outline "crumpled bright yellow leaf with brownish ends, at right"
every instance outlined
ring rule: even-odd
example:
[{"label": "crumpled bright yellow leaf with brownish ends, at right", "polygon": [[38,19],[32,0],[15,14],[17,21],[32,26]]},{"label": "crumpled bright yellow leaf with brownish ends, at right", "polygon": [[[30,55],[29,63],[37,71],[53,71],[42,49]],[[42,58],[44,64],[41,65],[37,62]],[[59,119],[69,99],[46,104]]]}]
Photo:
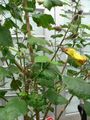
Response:
[{"label": "crumpled bright yellow leaf with brownish ends, at right", "polygon": [[78,65],[83,65],[88,60],[85,55],[80,55],[74,48],[62,48],[62,51],[73,58]]}]

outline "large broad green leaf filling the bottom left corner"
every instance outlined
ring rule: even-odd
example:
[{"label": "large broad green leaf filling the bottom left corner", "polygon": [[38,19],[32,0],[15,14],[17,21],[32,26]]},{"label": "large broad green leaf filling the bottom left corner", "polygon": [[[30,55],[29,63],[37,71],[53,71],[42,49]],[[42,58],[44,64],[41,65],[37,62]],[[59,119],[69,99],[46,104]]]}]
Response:
[{"label": "large broad green leaf filling the bottom left corner", "polygon": [[0,108],[1,120],[15,120],[18,116],[25,115],[27,112],[27,105],[25,101],[14,98],[10,100],[5,108]]}]

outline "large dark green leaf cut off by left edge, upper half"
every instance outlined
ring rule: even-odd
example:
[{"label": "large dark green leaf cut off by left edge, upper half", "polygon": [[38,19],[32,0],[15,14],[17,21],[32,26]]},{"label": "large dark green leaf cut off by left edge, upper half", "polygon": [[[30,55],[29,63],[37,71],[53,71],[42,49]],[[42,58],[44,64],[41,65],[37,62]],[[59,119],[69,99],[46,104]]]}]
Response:
[{"label": "large dark green leaf cut off by left edge, upper half", "polygon": [[10,31],[4,26],[0,25],[0,46],[13,46]]}]

